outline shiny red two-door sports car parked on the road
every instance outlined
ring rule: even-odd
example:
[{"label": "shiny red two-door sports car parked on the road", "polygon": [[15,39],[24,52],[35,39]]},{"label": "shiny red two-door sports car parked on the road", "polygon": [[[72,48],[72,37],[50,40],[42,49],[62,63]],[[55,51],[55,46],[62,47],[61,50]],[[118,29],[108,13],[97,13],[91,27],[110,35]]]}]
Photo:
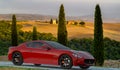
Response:
[{"label": "shiny red two-door sports car parked on the road", "polygon": [[75,51],[53,41],[30,41],[9,48],[8,59],[15,65],[33,63],[60,65],[64,69],[72,66],[89,68],[94,64],[94,57],[88,52]]}]

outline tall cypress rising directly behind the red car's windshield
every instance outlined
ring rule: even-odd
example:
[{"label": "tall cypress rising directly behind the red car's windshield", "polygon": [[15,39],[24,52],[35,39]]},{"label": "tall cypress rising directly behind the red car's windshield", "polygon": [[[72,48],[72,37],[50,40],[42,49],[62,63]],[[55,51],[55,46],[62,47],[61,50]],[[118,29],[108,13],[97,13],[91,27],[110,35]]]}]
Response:
[{"label": "tall cypress rising directly behind the red car's windshield", "polygon": [[66,29],[66,22],[65,22],[65,12],[63,4],[60,6],[59,10],[59,24],[58,24],[58,35],[57,35],[58,42],[67,45],[67,29]]}]

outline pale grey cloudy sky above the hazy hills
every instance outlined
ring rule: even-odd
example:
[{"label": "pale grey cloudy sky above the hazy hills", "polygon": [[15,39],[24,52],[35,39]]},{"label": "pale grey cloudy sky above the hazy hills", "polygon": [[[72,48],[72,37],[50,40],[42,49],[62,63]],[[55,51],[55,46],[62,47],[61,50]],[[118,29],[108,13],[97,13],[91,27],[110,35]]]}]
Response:
[{"label": "pale grey cloudy sky above the hazy hills", "polygon": [[0,14],[58,16],[61,4],[67,16],[93,15],[95,5],[99,4],[104,16],[120,18],[120,0],[0,0]]}]

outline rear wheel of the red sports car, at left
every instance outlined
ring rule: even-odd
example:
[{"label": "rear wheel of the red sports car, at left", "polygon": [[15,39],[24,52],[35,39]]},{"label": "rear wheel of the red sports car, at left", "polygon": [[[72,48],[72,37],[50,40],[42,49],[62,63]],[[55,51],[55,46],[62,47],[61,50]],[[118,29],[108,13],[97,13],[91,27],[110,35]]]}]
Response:
[{"label": "rear wheel of the red sports car, at left", "polygon": [[22,65],[23,64],[23,57],[20,52],[14,52],[12,54],[12,62],[14,65]]}]

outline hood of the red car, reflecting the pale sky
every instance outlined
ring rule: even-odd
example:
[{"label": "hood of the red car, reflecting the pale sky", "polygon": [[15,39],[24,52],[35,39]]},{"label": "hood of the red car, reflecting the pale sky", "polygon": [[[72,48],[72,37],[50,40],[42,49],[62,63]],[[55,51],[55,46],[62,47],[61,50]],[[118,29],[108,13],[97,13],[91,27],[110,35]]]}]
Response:
[{"label": "hood of the red car, reflecting the pale sky", "polygon": [[73,53],[76,53],[78,56],[81,56],[85,59],[94,59],[94,57],[88,53],[88,52],[85,52],[85,51],[76,51],[76,50],[70,50],[71,52]]}]

